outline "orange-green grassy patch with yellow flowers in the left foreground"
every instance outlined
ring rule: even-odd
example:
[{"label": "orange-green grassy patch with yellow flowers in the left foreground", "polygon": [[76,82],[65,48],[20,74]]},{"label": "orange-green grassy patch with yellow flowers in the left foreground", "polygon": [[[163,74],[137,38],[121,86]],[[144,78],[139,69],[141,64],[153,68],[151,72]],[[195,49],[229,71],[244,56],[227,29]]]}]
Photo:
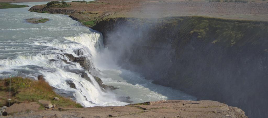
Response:
[{"label": "orange-green grassy patch with yellow flowers in the left foreground", "polygon": [[[11,79],[10,105],[22,102],[38,102],[39,99],[51,101],[58,107],[81,108],[75,101],[56,94],[51,86],[44,80],[32,80],[28,78],[14,77],[0,80],[0,106],[8,106],[9,86]],[[59,100],[53,100],[58,97]],[[41,106],[43,108],[43,106]]]}]

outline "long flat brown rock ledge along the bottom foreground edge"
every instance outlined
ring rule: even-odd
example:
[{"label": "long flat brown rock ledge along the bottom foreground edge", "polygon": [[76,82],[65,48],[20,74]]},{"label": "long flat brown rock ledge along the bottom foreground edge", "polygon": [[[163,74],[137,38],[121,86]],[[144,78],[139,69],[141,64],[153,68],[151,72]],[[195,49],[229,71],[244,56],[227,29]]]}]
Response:
[{"label": "long flat brown rock ledge along the bottom foreground edge", "polygon": [[166,100],[90,108],[59,108],[9,117],[237,117],[247,118],[244,111],[217,101]]}]

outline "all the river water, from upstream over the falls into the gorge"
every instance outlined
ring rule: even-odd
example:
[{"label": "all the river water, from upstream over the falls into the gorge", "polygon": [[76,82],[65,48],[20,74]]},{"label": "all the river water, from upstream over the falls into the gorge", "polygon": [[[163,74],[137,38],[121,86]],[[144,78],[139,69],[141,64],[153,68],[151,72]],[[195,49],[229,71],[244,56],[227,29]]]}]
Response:
[{"label": "all the river water, from upstream over the falls into the gorge", "polygon": [[[20,3],[38,5],[46,2]],[[132,103],[163,99],[195,100],[195,97],[152,84],[139,73],[120,69],[109,58],[102,34],[84,27],[67,15],[28,12],[28,8],[0,9],[0,79],[43,75],[55,91],[85,107],[120,106],[120,97]],[[25,22],[29,17],[46,17],[44,24]],[[68,54],[86,60],[88,68],[70,60]],[[112,65],[112,66],[110,66]],[[87,73],[87,80],[81,73]],[[93,76],[118,89],[102,89]],[[68,85],[73,82],[76,87]]]}]

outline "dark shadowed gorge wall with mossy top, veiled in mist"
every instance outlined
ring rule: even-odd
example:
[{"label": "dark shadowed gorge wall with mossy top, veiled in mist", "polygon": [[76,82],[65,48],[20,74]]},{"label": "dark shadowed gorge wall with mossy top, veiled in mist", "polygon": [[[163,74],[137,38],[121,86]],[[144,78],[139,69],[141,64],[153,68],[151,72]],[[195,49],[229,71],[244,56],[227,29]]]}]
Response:
[{"label": "dark shadowed gorge wall with mossy top, veiled in mist", "polygon": [[265,117],[268,23],[206,17],[113,18],[93,27],[118,64],[199,99]]}]

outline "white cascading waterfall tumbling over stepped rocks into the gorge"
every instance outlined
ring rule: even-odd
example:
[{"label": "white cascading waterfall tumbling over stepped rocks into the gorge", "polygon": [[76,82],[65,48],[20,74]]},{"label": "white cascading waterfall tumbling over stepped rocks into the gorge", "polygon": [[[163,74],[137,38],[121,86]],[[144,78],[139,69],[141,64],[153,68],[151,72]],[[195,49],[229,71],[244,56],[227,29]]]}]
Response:
[{"label": "white cascading waterfall tumbling over stepped rocks into the gorge", "polygon": [[[50,41],[38,40],[31,45],[47,47],[36,53],[23,53],[16,58],[0,60],[0,78],[14,75],[37,79],[38,75],[43,75],[46,82],[57,89],[57,93],[68,95],[82,106],[127,104],[117,101],[113,93],[104,92],[91,75],[98,73],[94,57],[103,49],[102,34],[92,32]],[[89,69],[70,60],[66,54],[71,54],[75,58],[84,57]],[[81,73],[86,77],[82,78]],[[75,88],[71,88],[68,82],[74,83]]]}]

